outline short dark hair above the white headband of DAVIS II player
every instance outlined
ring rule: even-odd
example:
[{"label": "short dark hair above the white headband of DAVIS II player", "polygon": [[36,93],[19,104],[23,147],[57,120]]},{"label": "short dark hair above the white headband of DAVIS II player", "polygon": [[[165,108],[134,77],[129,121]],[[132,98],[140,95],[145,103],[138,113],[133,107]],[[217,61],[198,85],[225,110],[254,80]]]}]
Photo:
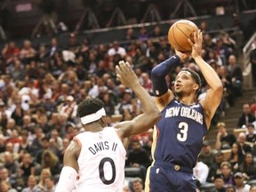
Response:
[{"label": "short dark hair above the white headband of DAVIS II player", "polygon": [[96,113],[100,108],[103,108],[103,106],[103,101],[98,98],[86,99],[78,104],[77,114],[80,117],[88,116]]}]

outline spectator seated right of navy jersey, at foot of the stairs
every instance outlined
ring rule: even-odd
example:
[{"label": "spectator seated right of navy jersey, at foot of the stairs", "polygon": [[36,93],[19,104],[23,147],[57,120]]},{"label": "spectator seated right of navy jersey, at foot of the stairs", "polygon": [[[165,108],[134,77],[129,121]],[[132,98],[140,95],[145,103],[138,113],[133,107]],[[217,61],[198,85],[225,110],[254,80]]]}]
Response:
[{"label": "spectator seated right of navy jersey, at foot of the stairs", "polygon": [[234,142],[236,142],[236,136],[232,133],[228,133],[226,124],[219,122],[217,125],[218,133],[216,137],[215,148],[216,149],[227,149],[231,148]]}]

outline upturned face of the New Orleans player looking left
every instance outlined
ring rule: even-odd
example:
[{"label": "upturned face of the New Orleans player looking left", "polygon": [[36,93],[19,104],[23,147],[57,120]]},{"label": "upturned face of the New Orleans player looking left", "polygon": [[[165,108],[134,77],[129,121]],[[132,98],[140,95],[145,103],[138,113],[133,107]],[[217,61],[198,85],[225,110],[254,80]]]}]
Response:
[{"label": "upturned face of the New Orleans player looking left", "polygon": [[191,74],[188,71],[180,71],[176,76],[174,83],[174,92],[180,94],[182,92],[193,92],[193,85],[195,84]]}]

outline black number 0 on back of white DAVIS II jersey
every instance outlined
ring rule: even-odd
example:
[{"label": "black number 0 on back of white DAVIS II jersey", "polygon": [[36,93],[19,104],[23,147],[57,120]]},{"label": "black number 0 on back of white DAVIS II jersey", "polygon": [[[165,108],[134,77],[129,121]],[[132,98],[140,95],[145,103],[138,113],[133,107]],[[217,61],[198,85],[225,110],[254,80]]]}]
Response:
[{"label": "black number 0 on back of white DAVIS II jersey", "polygon": [[[105,178],[105,173],[104,173],[104,164],[108,162],[111,167],[112,167],[112,178],[110,180],[107,180]],[[99,164],[99,172],[100,172],[100,180],[105,184],[105,185],[110,185],[113,183],[116,179],[116,165],[113,159],[109,157],[102,158]]]}]

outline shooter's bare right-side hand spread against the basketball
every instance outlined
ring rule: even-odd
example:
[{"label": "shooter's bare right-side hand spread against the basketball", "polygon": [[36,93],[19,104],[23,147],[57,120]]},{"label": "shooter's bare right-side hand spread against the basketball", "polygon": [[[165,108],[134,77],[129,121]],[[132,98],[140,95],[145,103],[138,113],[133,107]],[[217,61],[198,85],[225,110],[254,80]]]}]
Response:
[{"label": "shooter's bare right-side hand spread against the basketball", "polygon": [[188,38],[189,44],[192,46],[192,52],[191,56],[195,59],[198,56],[201,56],[202,52],[202,43],[203,43],[203,34],[202,31],[199,29],[197,32],[194,32],[194,42],[193,43],[189,38]]}]

